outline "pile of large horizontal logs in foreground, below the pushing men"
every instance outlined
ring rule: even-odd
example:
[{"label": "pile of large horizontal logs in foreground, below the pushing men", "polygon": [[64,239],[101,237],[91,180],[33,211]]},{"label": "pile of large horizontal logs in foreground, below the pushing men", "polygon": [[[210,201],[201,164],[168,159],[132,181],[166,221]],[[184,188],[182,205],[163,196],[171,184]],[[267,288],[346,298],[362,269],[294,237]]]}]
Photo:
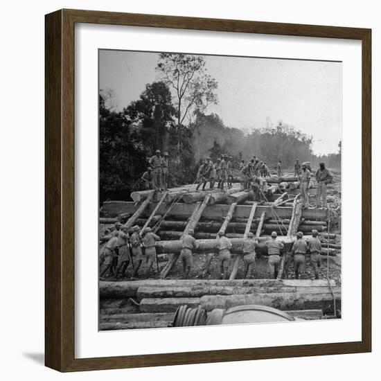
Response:
[{"label": "pile of large horizontal logs in foreground, below the pushing men", "polygon": [[[340,305],[341,292],[331,281]],[[297,319],[321,319],[333,311],[326,280],[167,280],[100,281],[100,330],[168,327],[177,308],[215,308],[261,304]],[[130,302],[130,298],[139,305]]]}]

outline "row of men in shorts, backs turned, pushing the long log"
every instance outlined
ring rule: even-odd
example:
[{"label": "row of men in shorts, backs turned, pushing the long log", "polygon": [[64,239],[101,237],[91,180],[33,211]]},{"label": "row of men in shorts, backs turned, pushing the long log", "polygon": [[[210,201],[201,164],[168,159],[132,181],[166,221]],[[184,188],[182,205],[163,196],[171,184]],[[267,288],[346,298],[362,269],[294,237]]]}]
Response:
[{"label": "row of men in shorts, backs turned, pushing the long log", "polygon": [[[130,230],[130,231],[129,231]],[[181,239],[181,253],[179,259],[182,263],[182,278],[189,276],[190,269],[193,267],[193,251],[200,247],[200,244],[194,238],[195,232],[189,229],[186,236]],[[318,238],[316,230],[312,231],[312,238],[303,240],[303,233],[296,233],[297,240],[292,245],[291,254],[294,260],[295,277],[299,278],[305,271],[306,257],[309,255],[315,278],[319,278],[321,241]],[[106,244],[103,246],[100,254],[100,278],[105,276],[117,278],[127,277],[127,268],[132,265],[132,276],[138,275],[142,263],[145,264],[144,276],[150,276],[150,270],[156,262],[157,272],[159,265],[157,261],[156,242],[160,240],[150,227],[141,231],[139,225],[131,229],[123,226],[119,222],[115,224],[114,231],[107,229],[103,240]],[[277,233],[273,231],[265,245],[267,247],[267,267],[269,278],[277,278],[278,269],[281,264],[281,252],[284,249],[283,242],[277,240]],[[247,238],[242,243],[243,263],[245,266],[245,278],[254,276],[256,267],[256,247],[258,240],[254,233],[249,232]],[[217,236],[216,250],[218,251],[218,260],[220,263],[220,273],[222,279],[229,278],[229,267],[231,264],[232,243],[225,236],[224,231],[219,231]],[[283,255],[286,255],[284,253]]]}]

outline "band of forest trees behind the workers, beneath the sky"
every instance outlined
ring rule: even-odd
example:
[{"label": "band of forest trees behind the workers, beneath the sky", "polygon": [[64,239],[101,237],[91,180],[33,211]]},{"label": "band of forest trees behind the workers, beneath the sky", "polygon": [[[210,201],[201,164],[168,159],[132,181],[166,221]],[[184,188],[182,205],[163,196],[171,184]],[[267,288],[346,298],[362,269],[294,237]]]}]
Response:
[{"label": "band of forest trees behind the workers, beneath the sky", "polygon": [[312,136],[285,123],[267,121],[265,127],[245,133],[207,114],[209,105],[218,103],[218,83],[207,73],[202,57],[163,53],[156,69],[161,80],[146,85],[122,112],[116,112],[106,102],[108,94],[100,91],[100,202],[129,200],[157,149],[169,152],[169,186],[192,183],[200,159],[216,159],[221,153],[231,155],[235,163],[255,154],[270,170],[279,159],[283,168],[290,168],[296,157],[310,161],[313,168],[319,161],[328,168],[341,166],[341,142],[337,153],[317,157]]}]

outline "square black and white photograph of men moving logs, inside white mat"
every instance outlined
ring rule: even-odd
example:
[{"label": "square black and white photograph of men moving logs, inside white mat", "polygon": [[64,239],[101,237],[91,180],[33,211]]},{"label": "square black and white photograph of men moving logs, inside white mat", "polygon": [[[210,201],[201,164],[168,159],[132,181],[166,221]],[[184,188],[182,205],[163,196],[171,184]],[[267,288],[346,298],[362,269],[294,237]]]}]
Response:
[{"label": "square black and white photograph of men moving logs, inside white mat", "polygon": [[98,50],[99,330],[342,318],[342,69]]}]

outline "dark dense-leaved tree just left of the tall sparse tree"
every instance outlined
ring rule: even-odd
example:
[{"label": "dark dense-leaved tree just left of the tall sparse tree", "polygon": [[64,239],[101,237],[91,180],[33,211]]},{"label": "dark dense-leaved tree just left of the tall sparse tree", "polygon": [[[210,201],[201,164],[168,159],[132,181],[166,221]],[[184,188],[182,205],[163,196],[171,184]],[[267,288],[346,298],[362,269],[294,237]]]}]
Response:
[{"label": "dark dense-leaved tree just left of the tall sparse tree", "polygon": [[141,139],[150,148],[150,153],[167,149],[168,128],[173,123],[176,109],[166,83],[160,81],[145,85],[140,98],[134,100],[124,112],[139,125]]}]

